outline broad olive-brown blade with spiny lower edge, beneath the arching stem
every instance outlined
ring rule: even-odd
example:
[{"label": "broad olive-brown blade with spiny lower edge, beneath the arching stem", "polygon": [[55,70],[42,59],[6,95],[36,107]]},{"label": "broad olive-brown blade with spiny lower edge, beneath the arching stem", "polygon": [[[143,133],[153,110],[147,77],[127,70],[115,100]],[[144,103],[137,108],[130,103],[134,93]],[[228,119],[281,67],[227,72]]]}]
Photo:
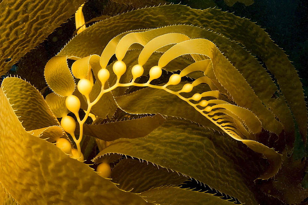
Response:
[{"label": "broad olive-brown blade with spiny lower edge, beneath the arching stem", "polygon": [[[257,204],[242,175],[237,172],[234,161],[224,152],[223,147],[235,145],[236,142],[229,141],[229,145],[224,142],[215,144],[211,137],[223,139],[225,136],[188,120],[167,118],[162,126],[146,137],[115,140],[101,151],[94,161],[99,163],[109,157],[109,154],[111,156],[111,153],[129,155],[193,177],[218,191],[236,197],[242,203]],[[231,155],[237,156],[238,159],[243,157],[237,155],[237,152]],[[245,157],[250,158],[249,155]],[[249,168],[256,166],[252,161],[247,163],[241,165],[242,169],[246,169],[246,165]]]}]

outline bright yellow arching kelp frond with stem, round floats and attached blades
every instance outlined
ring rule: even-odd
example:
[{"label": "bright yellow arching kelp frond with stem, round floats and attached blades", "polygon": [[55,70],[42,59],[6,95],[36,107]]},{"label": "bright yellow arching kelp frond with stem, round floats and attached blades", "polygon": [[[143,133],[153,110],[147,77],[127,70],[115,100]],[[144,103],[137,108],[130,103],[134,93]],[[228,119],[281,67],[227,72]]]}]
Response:
[{"label": "bright yellow arching kelp frond with stem, round floats and attached blades", "polygon": [[[182,27],[183,29],[190,29],[190,27],[184,25]],[[73,79],[73,76],[75,76],[77,79],[80,79],[77,85],[77,89],[85,97],[87,102],[85,117],[80,120],[78,116],[78,111],[80,109],[79,99],[82,100],[82,98],[78,98],[77,96],[72,95],[75,83],[67,83],[69,85],[67,86],[66,92],[61,92],[61,89],[59,89],[59,91],[63,93],[62,96],[67,96],[67,93],[69,92],[66,99],[66,106],[68,110],[76,115],[80,126],[79,138],[78,140],[74,138],[74,141],[79,145],[83,136],[83,124],[89,116],[92,107],[99,102],[105,93],[111,92],[117,87],[130,86],[162,89],[168,93],[178,96],[180,99],[187,102],[190,106],[193,106],[194,109],[196,109],[205,118],[219,127],[222,131],[227,133],[230,137],[243,142],[253,151],[264,154],[265,157],[269,160],[271,168],[268,172],[260,177],[261,179],[268,179],[269,177],[273,176],[274,173],[277,173],[281,164],[281,155],[279,155],[273,149],[270,149],[269,147],[257,142],[256,136],[261,132],[261,122],[264,129],[273,131],[275,133],[281,132],[281,123],[276,119],[273,119],[273,123],[277,126],[269,126],[266,122],[272,118],[263,118],[262,116],[264,114],[260,110],[254,110],[255,108],[249,109],[250,107],[236,106],[226,102],[225,100],[219,99],[220,93],[225,93],[226,88],[224,86],[232,87],[229,82],[232,79],[223,78],[217,80],[217,76],[220,78],[220,74],[222,75],[225,73],[225,70],[233,73],[234,76],[238,76],[237,81],[241,83],[241,87],[243,90],[245,90],[246,93],[253,93],[253,90],[236,70],[236,68],[219,51],[213,42],[204,38],[190,38],[187,37],[187,35],[189,35],[188,32],[186,32],[186,35],[180,33],[170,33],[170,29],[168,27],[148,30],[144,32],[132,32],[126,35],[121,34],[113,38],[106,45],[101,56],[94,54],[83,58],[71,58],[75,60],[75,62],[72,64],[71,72],[69,72],[69,68],[66,62],[68,57],[55,56],[55,60],[50,60],[47,66],[48,69],[50,69],[49,67],[52,67],[51,64],[62,63],[61,68],[63,69],[63,72],[67,72],[67,79]],[[124,63],[126,60],[123,61],[123,59],[128,50],[134,49],[131,47],[133,44],[140,44],[143,46],[143,49],[141,50],[138,57],[138,64],[133,66],[129,65],[129,69],[127,69],[127,65]],[[150,69],[146,68],[146,73],[144,73],[143,65],[147,63],[150,56],[155,51],[157,51],[157,49],[160,49],[160,52],[163,54],[160,56],[157,64],[150,67]],[[114,54],[117,60],[112,65],[112,72],[111,69],[107,68],[107,65]],[[186,68],[182,69],[180,74],[171,75],[168,79],[168,82],[164,83],[164,85],[153,85],[153,83],[151,84],[153,80],[159,79],[161,77],[162,70],[167,64],[169,64],[177,57],[183,55],[190,55],[195,62],[190,63]],[[204,58],[202,58],[202,56]],[[130,68],[130,66],[132,67]],[[188,74],[195,71],[203,72],[204,76],[197,78],[192,83],[181,83],[182,77],[187,76]],[[92,72],[95,75],[96,81],[90,78]],[[136,79],[143,75],[148,75],[148,82],[136,83]],[[123,83],[120,83],[120,79],[123,81]],[[111,87],[109,87],[110,82],[114,82]],[[210,90],[212,91],[196,92],[194,90],[194,87],[200,87],[200,84],[204,83],[208,84]],[[93,100],[91,102],[90,93],[94,85],[99,86],[100,91],[95,89],[95,92],[92,93],[93,96],[91,96],[96,96],[96,98],[91,99]],[[178,90],[174,91],[172,86],[177,86]],[[230,91],[228,90],[228,92]],[[184,93],[187,93],[191,96],[187,97]],[[234,94],[234,96],[236,96],[236,94]],[[251,102],[253,102],[253,104],[258,105],[258,107],[265,110],[265,112],[269,111],[263,105],[261,105],[261,101],[257,100],[257,96],[253,94],[248,96],[249,99],[251,98]],[[247,100],[248,99],[241,99],[239,103],[245,104]],[[234,102],[237,103],[237,100],[234,100]],[[100,106],[104,105],[101,104]],[[71,130],[64,127],[63,129],[68,133],[69,131],[72,132]],[[80,145],[78,145],[77,157],[81,158],[82,153],[80,150]]]}]

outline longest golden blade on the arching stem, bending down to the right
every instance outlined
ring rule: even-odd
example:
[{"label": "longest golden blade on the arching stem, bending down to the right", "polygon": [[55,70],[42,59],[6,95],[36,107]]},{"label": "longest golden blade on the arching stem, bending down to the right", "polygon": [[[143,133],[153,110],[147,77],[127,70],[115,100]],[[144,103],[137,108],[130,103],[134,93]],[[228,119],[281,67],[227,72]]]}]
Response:
[{"label": "longest golden blade on the arching stem, bending down to the right", "polygon": [[[227,59],[225,59],[211,41],[206,39],[192,39],[176,44],[161,56],[158,65],[163,67],[172,59],[188,53],[209,56],[213,62],[213,70],[216,78],[231,94],[233,101],[237,103],[238,106],[243,106],[256,114],[266,130],[270,130],[277,134],[282,131],[282,125],[276,121],[274,115],[262,105],[261,101],[254,94],[242,75]],[[243,98],[243,96],[246,97]]]}]

